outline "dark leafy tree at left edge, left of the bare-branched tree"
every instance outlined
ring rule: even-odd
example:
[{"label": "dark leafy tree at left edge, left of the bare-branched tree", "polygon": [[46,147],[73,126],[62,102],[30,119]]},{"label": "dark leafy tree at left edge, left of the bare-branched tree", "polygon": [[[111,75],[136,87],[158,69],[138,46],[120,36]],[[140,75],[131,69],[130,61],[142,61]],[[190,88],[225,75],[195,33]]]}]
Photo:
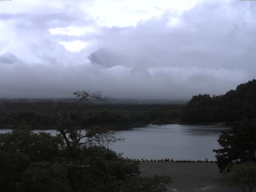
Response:
[{"label": "dark leafy tree at left edge, left of the bare-branched tree", "polygon": [[22,175],[32,162],[59,156],[63,141],[47,133],[13,130],[0,134],[0,186],[5,192],[19,191]]}]

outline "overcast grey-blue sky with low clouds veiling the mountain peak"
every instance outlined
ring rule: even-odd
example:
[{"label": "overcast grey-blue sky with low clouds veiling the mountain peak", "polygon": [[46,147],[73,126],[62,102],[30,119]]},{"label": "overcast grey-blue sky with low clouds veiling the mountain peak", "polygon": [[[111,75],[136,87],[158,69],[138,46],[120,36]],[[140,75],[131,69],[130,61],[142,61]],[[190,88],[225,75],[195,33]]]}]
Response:
[{"label": "overcast grey-blue sky with low clouds veiling the mountain peak", "polygon": [[256,1],[0,0],[0,98],[189,99],[255,74]]}]

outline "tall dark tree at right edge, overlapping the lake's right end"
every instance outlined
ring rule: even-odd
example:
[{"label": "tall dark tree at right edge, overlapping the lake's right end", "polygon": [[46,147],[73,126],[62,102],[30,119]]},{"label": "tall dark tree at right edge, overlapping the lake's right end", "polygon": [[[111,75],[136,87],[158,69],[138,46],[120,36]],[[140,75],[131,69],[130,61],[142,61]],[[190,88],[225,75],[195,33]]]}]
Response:
[{"label": "tall dark tree at right edge, overlapping the lake's right end", "polygon": [[229,171],[232,163],[256,162],[256,120],[236,122],[231,130],[220,135],[218,142],[222,148],[213,150],[220,172]]}]

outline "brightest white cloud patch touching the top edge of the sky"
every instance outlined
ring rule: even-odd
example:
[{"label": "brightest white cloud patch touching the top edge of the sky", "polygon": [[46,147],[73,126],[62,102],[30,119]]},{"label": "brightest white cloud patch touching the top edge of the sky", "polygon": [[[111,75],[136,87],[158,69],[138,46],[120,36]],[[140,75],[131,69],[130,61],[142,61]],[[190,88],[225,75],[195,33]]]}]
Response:
[{"label": "brightest white cloud patch touching the top edge of the sky", "polygon": [[198,0],[94,0],[85,11],[100,26],[136,26],[140,20],[161,16],[170,10],[184,11],[195,6]]}]

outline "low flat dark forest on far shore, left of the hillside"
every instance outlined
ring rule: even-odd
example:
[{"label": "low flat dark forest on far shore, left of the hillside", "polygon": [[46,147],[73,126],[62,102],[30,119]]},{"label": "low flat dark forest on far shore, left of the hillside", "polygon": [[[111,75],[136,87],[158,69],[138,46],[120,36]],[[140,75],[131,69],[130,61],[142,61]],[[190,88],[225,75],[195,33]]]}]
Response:
[{"label": "low flat dark forest on far shore, left of the hillside", "polygon": [[[0,104],[0,128],[27,126],[32,129],[52,128],[55,122],[46,115],[67,113],[74,102],[10,102]],[[144,124],[180,122],[181,104],[86,104],[71,116],[73,126],[91,125],[127,128]]]}]

